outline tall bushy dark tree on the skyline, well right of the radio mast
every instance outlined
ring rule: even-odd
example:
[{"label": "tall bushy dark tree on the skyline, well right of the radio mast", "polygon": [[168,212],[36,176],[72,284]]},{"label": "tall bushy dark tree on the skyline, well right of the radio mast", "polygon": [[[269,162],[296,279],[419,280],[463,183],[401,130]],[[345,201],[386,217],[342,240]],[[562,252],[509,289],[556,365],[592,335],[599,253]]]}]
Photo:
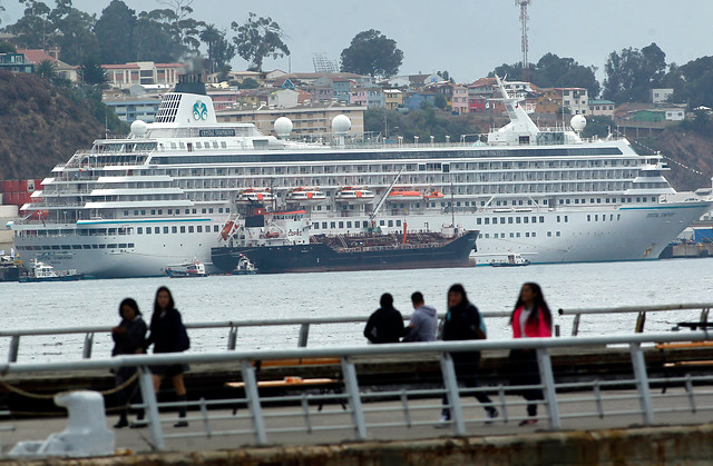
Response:
[{"label": "tall bushy dark tree on the skyline, well right of the radio mast", "polygon": [[648,91],[661,86],[666,70],[666,54],[651,43],[642,50],[627,48],[613,51],[604,67],[603,97],[617,103],[644,102]]}]

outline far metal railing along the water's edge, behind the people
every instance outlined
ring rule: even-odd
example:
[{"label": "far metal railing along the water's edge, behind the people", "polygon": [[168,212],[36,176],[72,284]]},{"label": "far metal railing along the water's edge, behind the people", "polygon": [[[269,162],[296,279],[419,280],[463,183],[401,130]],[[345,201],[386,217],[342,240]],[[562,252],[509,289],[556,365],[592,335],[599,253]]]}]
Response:
[{"label": "far metal railing along the water's edge, behind the people", "polygon": [[[652,313],[675,311],[675,310],[695,310],[701,309],[700,320],[707,321],[709,311],[713,308],[712,303],[692,303],[692,304],[672,304],[672,305],[655,305],[655,306],[626,306],[626,307],[613,307],[613,308],[582,308],[582,309],[559,309],[560,316],[574,316],[572,321],[572,336],[578,336],[582,318],[584,316],[595,317],[611,314],[636,314],[636,324],[634,331],[644,331],[646,316]],[[507,318],[510,316],[509,311],[486,311],[481,313],[486,321],[496,318]],[[442,318],[443,315],[439,315]],[[296,327],[297,328],[297,347],[303,348],[307,346],[310,331],[314,327],[319,326],[349,326],[354,324],[363,324],[369,319],[369,316],[345,316],[345,317],[322,317],[322,318],[294,318],[294,319],[251,319],[251,320],[227,320],[215,323],[193,323],[186,324],[188,329],[225,329],[227,330],[227,350],[235,350],[237,347],[237,335],[241,328],[260,328],[260,327]],[[410,316],[404,315],[404,320],[409,320]],[[555,335],[559,336],[560,323],[555,328]],[[3,330],[0,331],[0,338],[10,338],[10,345],[8,350],[8,361],[14,363],[18,360],[20,350],[20,339],[31,338],[39,336],[59,336],[59,335],[84,335],[84,343],[81,344],[81,357],[85,359],[91,358],[95,336],[97,334],[104,335],[110,343],[111,326],[96,326],[96,327],[66,327],[66,328],[40,328],[40,329],[25,329],[25,330]],[[70,343],[65,341],[65,346],[71,346]]]}]

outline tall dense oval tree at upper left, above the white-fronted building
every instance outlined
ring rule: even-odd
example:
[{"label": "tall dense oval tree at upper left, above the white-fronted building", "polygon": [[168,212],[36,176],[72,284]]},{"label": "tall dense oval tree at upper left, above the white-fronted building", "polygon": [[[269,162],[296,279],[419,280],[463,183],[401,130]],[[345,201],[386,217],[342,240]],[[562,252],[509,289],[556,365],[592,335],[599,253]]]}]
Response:
[{"label": "tall dense oval tree at upper left, above the white-fronted building", "polygon": [[105,63],[126,63],[136,60],[134,31],[135,11],[121,0],[113,0],[95,24],[101,60]]}]

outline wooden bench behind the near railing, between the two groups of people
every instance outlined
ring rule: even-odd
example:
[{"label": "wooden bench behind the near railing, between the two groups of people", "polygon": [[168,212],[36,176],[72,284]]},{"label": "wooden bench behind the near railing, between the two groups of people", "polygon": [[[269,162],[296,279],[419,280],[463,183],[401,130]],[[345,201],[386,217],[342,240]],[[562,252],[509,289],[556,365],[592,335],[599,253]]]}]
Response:
[{"label": "wooden bench behind the near railing, between the two groups of people", "polygon": [[[340,379],[331,377],[313,377],[302,378],[300,376],[286,376],[277,380],[260,380],[261,369],[266,367],[300,367],[300,366],[331,366],[341,364],[340,358],[297,358],[297,359],[268,359],[253,361],[255,366],[255,378],[257,378],[257,388],[284,388],[284,389],[303,389],[319,388],[320,394],[341,394],[343,393],[343,384]],[[226,381],[228,388],[245,389],[244,381]],[[344,400],[341,400],[343,409],[346,409]],[[320,400],[318,410],[322,410],[324,401]],[[237,412],[237,407],[233,408],[233,414]]]}]

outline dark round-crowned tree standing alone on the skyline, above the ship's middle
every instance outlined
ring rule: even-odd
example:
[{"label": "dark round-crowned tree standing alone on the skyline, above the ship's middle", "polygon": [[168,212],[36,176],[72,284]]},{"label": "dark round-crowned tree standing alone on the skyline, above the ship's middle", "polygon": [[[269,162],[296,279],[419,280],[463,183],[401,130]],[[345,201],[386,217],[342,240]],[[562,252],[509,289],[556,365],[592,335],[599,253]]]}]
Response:
[{"label": "dark round-crowned tree standing alone on the skyline, above the ship's middle", "polygon": [[390,77],[399,72],[403,52],[397,48],[393,39],[370,29],[354,36],[351,44],[342,50],[341,59],[341,70],[344,72]]}]

